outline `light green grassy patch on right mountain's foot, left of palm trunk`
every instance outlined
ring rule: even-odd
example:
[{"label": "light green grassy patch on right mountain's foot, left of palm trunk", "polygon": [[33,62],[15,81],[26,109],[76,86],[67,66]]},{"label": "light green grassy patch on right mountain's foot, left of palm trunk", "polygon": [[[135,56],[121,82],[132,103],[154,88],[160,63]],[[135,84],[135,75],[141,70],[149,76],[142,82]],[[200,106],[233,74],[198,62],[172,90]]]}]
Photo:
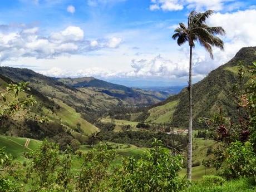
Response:
[{"label": "light green grassy patch on right mountain's foot, left of palm trunk", "polygon": [[171,101],[168,104],[160,105],[149,110],[149,117],[146,122],[153,122],[155,124],[164,124],[173,120],[173,113],[179,101]]}]

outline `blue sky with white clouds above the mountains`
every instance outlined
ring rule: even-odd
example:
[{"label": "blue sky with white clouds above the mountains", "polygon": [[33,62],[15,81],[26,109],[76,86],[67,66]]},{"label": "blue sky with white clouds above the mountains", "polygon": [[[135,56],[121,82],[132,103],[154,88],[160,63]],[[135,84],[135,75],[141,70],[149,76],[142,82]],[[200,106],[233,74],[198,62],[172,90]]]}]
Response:
[{"label": "blue sky with white clouds above the mountains", "polygon": [[188,81],[189,46],[171,38],[188,14],[213,9],[224,51],[214,60],[199,45],[193,82],[256,46],[256,0],[1,0],[1,66],[52,77],[93,76],[127,86],[174,86]]}]

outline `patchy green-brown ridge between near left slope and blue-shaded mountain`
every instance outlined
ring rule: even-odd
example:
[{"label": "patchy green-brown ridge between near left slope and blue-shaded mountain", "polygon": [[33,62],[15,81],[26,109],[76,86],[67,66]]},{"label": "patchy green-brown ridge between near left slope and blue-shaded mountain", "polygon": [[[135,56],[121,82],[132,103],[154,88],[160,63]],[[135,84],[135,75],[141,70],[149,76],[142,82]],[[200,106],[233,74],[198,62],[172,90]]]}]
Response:
[{"label": "patchy green-brown ridge between near left slope and blue-shaded mountain", "polygon": [[78,90],[57,81],[56,78],[43,76],[24,68],[0,67],[0,74],[14,82],[29,81],[29,86],[43,96],[63,101],[68,106],[85,115],[91,122],[101,111],[107,111],[112,106],[125,105],[125,102],[98,91],[82,88]]}]

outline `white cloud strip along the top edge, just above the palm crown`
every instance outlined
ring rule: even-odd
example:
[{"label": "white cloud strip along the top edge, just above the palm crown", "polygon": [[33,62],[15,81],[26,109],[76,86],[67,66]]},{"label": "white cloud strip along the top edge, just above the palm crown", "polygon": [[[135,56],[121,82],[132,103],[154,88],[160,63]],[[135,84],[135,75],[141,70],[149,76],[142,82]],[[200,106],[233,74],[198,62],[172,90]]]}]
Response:
[{"label": "white cloud strip along the top edge, just above the palm crown", "polygon": [[[205,9],[213,9],[220,11],[227,3],[228,9],[239,8],[241,3],[234,0],[151,0],[150,10],[155,11],[162,9],[163,11],[179,11],[184,7],[188,9],[196,9],[198,11]],[[239,6],[238,6],[239,5]]]}]

